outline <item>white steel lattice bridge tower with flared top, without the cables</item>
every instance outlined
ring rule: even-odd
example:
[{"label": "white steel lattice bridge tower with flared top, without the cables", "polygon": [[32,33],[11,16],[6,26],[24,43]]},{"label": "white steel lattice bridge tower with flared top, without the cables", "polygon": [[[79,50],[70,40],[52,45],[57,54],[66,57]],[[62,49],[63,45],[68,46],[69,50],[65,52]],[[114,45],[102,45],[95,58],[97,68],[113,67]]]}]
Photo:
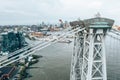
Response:
[{"label": "white steel lattice bridge tower with flared top, without the cables", "polygon": [[113,23],[101,17],[84,20],[86,32],[75,38],[70,80],[107,80],[104,41]]}]

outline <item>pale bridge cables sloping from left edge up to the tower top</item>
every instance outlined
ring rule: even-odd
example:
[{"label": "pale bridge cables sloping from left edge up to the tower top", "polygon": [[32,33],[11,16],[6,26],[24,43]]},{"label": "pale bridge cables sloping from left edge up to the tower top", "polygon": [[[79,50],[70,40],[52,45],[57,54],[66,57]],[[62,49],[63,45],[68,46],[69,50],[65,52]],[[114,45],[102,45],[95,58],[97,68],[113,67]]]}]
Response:
[{"label": "pale bridge cables sloping from left edge up to the tower top", "polygon": [[58,41],[58,39],[66,37],[66,35],[68,35],[68,34],[75,34],[84,29],[85,28],[80,28],[80,27],[77,27],[75,29],[67,28],[63,31],[64,32],[63,34],[61,34],[60,36],[57,37],[57,39],[51,39],[48,42],[39,42],[38,44],[35,44],[35,45],[28,45],[22,49],[19,49],[13,53],[10,53],[8,55],[7,59],[0,60],[0,65],[1,65],[0,68],[5,67],[11,63],[14,63],[14,62],[16,62],[22,58],[25,58],[31,54],[34,54],[36,51],[41,50],[51,44],[54,44]]}]

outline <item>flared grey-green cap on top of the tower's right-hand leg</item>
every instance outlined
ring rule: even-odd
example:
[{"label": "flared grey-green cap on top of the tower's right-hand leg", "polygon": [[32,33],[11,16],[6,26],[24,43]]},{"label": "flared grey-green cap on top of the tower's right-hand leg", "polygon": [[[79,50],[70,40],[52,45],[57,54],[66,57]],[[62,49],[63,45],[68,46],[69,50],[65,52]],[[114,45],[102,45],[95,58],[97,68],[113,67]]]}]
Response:
[{"label": "flared grey-green cap on top of the tower's right-hand leg", "polygon": [[102,17],[85,19],[83,21],[87,29],[88,28],[110,29],[114,24],[114,20]]}]

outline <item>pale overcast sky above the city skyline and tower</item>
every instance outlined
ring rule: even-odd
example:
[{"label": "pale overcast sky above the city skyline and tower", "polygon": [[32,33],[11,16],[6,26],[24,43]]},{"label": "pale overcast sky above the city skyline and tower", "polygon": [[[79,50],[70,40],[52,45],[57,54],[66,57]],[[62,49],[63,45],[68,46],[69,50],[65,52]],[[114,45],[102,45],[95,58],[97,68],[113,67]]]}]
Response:
[{"label": "pale overcast sky above the city skyline and tower", "polygon": [[57,23],[94,17],[120,24],[120,0],[0,0],[0,25]]}]

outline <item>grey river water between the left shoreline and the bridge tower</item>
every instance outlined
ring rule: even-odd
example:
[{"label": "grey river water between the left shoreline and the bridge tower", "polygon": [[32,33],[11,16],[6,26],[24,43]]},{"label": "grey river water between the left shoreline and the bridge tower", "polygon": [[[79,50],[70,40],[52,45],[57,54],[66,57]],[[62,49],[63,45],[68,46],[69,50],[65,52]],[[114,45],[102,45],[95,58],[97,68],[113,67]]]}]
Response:
[{"label": "grey river water between the left shoreline and the bridge tower", "polygon": [[29,69],[31,78],[26,80],[69,80],[73,43],[56,43],[36,54],[39,62]]}]

